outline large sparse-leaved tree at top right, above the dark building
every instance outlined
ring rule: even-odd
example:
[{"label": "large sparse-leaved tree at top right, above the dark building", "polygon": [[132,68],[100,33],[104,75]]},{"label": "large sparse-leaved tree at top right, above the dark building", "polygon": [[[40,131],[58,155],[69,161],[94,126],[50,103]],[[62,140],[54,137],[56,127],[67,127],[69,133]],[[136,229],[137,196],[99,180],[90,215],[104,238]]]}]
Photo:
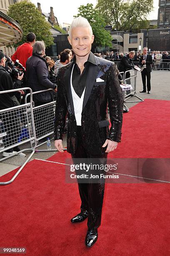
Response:
[{"label": "large sparse-leaved tree at top right, above the dark building", "polygon": [[153,10],[153,0],[97,0],[96,10],[102,13],[106,24],[117,31],[133,32],[137,24],[142,26],[147,20]]}]

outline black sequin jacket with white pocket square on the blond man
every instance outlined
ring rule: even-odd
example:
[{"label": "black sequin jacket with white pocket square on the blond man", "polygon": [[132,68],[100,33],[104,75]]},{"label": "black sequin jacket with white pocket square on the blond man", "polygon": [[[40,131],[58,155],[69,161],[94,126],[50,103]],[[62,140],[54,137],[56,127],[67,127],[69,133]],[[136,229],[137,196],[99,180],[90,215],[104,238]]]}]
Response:
[{"label": "black sequin jacket with white pocket square on the blond man", "polygon": [[[90,65],[87,74],[81,124],[86,151],[89,154],[99,155],[104,152],[102,145],[106,139],[120,142],[123,101],[115,65],[111,61],[96,56],[94,58],[96,65]],[[67,151],[75,154],[77,124],[70,86],[71,71],[72,62],[58,71],[54,139],[63,138],[67,117]],[[96,82],[99,77],[104,82]],[[111,122],[110,130],[108,121],[105,121],[107,120],[107,102]]]}]

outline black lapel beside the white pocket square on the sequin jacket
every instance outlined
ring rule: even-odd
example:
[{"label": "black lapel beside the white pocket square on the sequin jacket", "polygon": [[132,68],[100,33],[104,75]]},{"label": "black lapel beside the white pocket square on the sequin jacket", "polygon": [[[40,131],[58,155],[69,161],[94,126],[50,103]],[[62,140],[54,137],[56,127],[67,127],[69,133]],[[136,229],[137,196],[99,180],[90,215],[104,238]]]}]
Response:
[{"label": "black lapel beside the white pocket square on the sequin jacket", "polygon": [[89,66],[86,84],[85,84],[85,95],[84,95],[84,100],[83,100],[83,104],[82,104],[82,110],[85,107],[88,98],[90,97],[92,87],[95,83],[97,74],[99,73],[100,69],[101,69],[100,65],[90,65]]}]

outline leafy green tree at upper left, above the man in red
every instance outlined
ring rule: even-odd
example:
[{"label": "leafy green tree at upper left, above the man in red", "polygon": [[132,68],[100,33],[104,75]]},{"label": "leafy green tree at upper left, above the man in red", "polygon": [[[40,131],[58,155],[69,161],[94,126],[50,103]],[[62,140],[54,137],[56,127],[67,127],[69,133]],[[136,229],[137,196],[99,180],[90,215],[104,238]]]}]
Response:
[{"label": "leafy green tree at upper left, above the man in red", "polygon": [[18,20],[23,28],[23,38],[14,46],[19,46],[27,40],[27,34],[33,32],[36,35],[37,41],[44,41],[48,47],[53,44],[52,33],[50,32],[50,24],[45,20],[45,17],[40,13],[33,3],[22,1],[9,6],[7,15],[14,20]]}]

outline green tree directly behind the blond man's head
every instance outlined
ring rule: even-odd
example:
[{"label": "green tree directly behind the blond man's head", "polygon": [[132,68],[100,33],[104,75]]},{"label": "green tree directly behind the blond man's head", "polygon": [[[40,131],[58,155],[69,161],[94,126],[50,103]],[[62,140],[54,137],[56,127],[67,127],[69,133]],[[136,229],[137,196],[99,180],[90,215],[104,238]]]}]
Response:
[{"label": "green tree directly behind the blond man's head", "polygon": [[96,46],[112,46],[112,37],[105,30],[105,20],[98,10],[93,8],[92,4],[81,5],[78,8],[78,14],[74,17],[82,16],[88,20],[95,36],[94,44]]}]

